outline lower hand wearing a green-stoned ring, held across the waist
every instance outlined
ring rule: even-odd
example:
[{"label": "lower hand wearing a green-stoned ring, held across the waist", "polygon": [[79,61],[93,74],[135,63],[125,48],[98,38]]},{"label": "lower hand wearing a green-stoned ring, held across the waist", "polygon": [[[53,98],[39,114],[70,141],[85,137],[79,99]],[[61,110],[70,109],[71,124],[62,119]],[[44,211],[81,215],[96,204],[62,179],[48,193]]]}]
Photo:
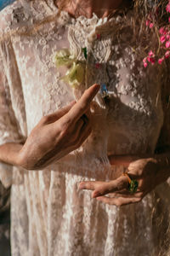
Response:
[{"label": "lower hand wearing a green-stoned ring, held across the waist", "polygon": [[161,170],[160,164],[154,158],[136,159],[138,157],[131,156],[120,157],[120,160],[116,157],[115,162],[111,159],[111,164],[114,162],[114,165],[127,166],[128,176],[137,180],[138,189],[135,193],[129,192],[128,178],[124,175],[110,182],[82,182],[79,189],[93,190],[92,198],[117,207],[141,201],[144,195],[167,180],[167,172]]}]

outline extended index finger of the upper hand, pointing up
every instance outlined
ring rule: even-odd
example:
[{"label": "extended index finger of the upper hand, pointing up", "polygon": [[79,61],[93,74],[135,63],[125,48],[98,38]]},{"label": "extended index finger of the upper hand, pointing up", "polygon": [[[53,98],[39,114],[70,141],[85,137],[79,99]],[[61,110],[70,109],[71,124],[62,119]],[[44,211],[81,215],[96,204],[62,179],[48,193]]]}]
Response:
[{"label": "extended index finger of the upper hand, pointing up", "polygon": [[94,99],[94,96],[99,91],[100,85],[94,84],[85,90],[80,100],[71,108],[71,110],[66,113],[65,117],[68,119],[72,119],[73,121],[77,121],[81,118],[83,113],[86,113],[88,108],[90,107],[90,103]]}]

